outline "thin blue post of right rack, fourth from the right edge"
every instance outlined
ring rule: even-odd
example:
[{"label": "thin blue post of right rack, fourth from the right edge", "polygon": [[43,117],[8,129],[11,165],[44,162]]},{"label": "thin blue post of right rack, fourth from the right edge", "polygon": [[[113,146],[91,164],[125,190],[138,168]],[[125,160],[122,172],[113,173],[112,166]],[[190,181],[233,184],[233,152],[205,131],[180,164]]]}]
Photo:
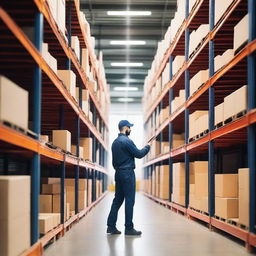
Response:
[{"label": "thin blue post of right rack, fourth from the right edge", "polygon": [[[170,56],[170,80],[173,78],[173,72],[172,72],[172,63],[173,63],[173,56]],[[173,101],[173,88],[170,88],[169,90],[169,115],[172,114],[172,105]],[[173,141],[173,124],[172,122],[169,123],[169,151],[172,149],[172,141]],[[172,201],[172,157],[169,158],[169,202]]]}]

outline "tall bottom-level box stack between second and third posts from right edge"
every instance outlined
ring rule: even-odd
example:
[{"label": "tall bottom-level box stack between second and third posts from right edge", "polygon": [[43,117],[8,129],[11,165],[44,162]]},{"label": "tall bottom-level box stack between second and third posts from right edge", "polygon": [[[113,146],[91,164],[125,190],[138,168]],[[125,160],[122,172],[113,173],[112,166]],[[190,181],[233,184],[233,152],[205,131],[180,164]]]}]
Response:
[{"label": "tall bottom-level box stack between second and third posts from right edge", "polygon": [[208,161],[190,163],[189,206],[208,212]]}]

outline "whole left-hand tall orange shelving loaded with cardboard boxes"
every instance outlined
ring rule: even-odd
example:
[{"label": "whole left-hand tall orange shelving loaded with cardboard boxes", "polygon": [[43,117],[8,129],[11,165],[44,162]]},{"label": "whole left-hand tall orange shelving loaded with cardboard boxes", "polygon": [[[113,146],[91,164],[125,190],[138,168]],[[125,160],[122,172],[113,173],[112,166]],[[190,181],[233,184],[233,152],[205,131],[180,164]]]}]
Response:
[{"label": "whole left-hand tall orange shelving loaded with cardboard boxes", "polygon": [[[62,13],[58,13],[57,2],[64,8]],[[96,57],[78,0],[4,0],[0,31],[0,75],[28,92],[29,106],[28,127],[0,118],[0,175],[30,176],[32,247],[24,255],[42,255],[47,243],[64,235],[106,195],[109,87],[102,53]],[[59,70],[71,74],[70,81],[75,77],[75,85],[67,84]],[[72,150],[54,144],[53,130],[68,131]],[[84,154],[81,138],[91,145],[83,146]],[[48,177],[60,180],[61,222],[40,236],[39,195],[42,178]],[[74,179],[71,218],[65,213],[66,179]],[[81,209],[83,180],[87,203]]]}]

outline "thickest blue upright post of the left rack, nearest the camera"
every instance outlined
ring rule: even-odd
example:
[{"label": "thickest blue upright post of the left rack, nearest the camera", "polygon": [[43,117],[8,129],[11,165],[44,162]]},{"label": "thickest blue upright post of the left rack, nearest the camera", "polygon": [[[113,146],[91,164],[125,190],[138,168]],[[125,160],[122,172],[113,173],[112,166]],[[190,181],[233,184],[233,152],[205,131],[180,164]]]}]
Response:
[{"label": "thickest blue upright post of the left rack, nearest the camera", "polygon": [[[35,16],[35,47],[42,51],[43,42],[43,15],[40,12]],[[42,104],[42,71],[39,66],[34,68],[34,95],[33,95],[33,131],[40,139],[41,134],[41,104]],[[40,193],[40,155],[35,153],[32,160],[31,172],[31,245],[39,238],[38,213]]]}]

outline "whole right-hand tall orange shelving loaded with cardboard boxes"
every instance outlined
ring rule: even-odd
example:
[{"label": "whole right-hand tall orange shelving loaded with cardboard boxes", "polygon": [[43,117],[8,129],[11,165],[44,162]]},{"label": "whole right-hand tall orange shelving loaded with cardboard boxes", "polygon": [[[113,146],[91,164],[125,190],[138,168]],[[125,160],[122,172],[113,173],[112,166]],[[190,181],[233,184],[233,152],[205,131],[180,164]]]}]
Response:
[{"label": "whole right-hand tall orange shelving loaded with cardboard boxes", "polygon": [[[153,152],[144,163],[145,195],[192,219],[209,223],[210,228],[238,237],[250,249],[256,246],[255,3],[251,0],[226,1],[226,7],[222,6],[225,10],[220,10],[221,1],[217,0],[184,2],[184,19],[176,20],[181,25],[174,28],[174,35],[170,31],[175,22],[171,22],[160,44],[162,49],[158,49],[145,80],[146,139],[156,136],[151,148]],[[179,8],[182,9],[178,7],[179,15],[175,15],[175,19],[182,16]],[[247,40],[239,45],[240,35],[234,30],[246,22],[247,14]],[[195,43],[200,36],[201,41]],[[241,38],[243,36],[241,33]],[[232,95],[242,90],[247,92],[228,102]],[[232,105],[234,101],[236,104]],[[242,101],[246,107],[226,115],[228,108],[231,113]],[[221,118],[220,106],[226,108],[226,112],[221,110]],[[199,118],[192,119],[199,111],[200,122]],[[191,207],[194,195],[190,192],[190,182],[194,179],[192,164],[196,161],[207,162],[206,210]],[[182,189],[177,188],[181,181],[175,176],[178,164],[184,170]],[[164,166],[168,166],[168,172],[164,171]],[[215,184],[216,174],[237,174],[240,168],[249,169],[248,225],[242,225],[237,217],[231,220],[219,217],[215,208],[218,197],[215,187],[219,185]],[[167,196],[163,196],[160,188],[163,183],[168,187]],[[177,203],[175,191],[182,203]]]}]

